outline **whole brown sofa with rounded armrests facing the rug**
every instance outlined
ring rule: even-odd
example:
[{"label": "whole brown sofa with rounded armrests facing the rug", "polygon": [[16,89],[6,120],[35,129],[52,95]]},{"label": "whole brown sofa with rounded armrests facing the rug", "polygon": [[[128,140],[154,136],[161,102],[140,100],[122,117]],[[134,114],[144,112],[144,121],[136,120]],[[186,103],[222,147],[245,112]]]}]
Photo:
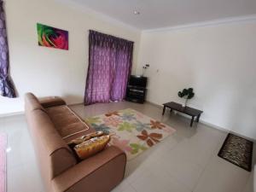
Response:
[{"label": "whole brown sofa with rounded armrests facing the rug", "polygon": [[25,96],[26,120],[47,192],[107,192],[125,174],[126,155],[115,146],[79,161],[67,143],[94,131],[60,97]]}]

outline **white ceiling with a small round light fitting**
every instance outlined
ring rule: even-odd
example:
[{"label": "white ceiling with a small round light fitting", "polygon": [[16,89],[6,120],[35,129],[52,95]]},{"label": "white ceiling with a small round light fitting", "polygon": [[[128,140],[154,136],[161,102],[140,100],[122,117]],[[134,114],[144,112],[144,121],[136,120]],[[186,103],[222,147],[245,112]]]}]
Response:
[{"label": "white ceiling with a small round light fitting", "polygon": [[[256,0],[73,0],[139,29],[256,14]],[[134,11],[140,15],[134,15]]]}]

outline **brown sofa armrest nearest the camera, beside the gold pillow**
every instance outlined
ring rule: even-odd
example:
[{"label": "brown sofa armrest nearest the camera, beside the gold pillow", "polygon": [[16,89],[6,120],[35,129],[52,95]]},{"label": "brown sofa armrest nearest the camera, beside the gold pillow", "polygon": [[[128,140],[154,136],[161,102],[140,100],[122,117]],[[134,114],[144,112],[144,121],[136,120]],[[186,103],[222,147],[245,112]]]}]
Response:
[{"label": "brown sofa armrest nearest the camera, beside the gold pillow", "polygon": [[108,192],[125,176],[126,155],[114,146],[81,161],[52,180],[55,192]]}]

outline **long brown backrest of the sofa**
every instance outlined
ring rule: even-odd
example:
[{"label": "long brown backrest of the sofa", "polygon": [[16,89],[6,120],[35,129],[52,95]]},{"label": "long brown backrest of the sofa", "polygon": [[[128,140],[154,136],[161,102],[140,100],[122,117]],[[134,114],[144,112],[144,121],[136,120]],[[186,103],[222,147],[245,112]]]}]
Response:
[{"label": "long brown backrest of the sofa", "polygon": [[44,182],[49,186],[52,178],[74,166],[77,161],[71,149],[55,130],[38,98],[32,93],[27,93],[25,97],[27,124]]}]

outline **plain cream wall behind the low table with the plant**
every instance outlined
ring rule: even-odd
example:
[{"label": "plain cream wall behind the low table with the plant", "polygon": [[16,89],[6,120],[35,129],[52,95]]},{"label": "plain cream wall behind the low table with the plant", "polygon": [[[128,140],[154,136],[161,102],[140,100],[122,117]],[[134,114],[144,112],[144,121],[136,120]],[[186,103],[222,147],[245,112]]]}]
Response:
[{"label": "plain cream wall behind the low table with the plant", "polygon": [[137,73],[150,64],[147,100],[183,102],[177,91],[193,87],[189,105],[202,120],[255,139],[255,34],[256,21],[143,32]]}]

